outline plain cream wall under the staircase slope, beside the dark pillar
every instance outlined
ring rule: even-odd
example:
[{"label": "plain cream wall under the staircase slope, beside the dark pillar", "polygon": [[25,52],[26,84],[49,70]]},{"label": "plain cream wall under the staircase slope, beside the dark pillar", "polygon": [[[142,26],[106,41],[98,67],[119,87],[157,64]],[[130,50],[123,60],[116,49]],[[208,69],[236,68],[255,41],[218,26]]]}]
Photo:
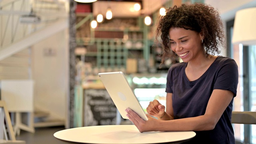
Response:
[{"label": "plain cream wall under the staircase slope, beside the dark pillar", "polygon": [[[33,46],[34,104],[66,119],[68,92],[68,29]],[[51,49],[52,55],[46,50]]]}]

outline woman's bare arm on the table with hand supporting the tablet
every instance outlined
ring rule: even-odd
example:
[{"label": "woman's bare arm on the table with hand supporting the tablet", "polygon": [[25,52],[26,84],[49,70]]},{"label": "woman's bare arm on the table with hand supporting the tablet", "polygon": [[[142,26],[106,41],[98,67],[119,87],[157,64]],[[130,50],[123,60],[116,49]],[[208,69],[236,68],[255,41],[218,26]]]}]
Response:
[{"label": "woman's bare arm on the table with hand supporting the tablet", "polygon": [[[142,120],[135,112],[128,109],[128,117],[137,126],[140,132],[146,131],[201,131],[201,130],[212,130],[217,124],[218,120],[222,116],[224,110],[230,104],[233,93],[228,90],[213,90],[206,112],[202,116],[192,118],[182,118],[176,120],[156,120],[150,118],[149,120]],[[171,94],[168,96],[172,96]],[[169,97],[169,98],[170,98]],[[170,106],[166,106],[170,107]],[[173,110],[167,108],[166,112],[168,115],[172,115]]]}]

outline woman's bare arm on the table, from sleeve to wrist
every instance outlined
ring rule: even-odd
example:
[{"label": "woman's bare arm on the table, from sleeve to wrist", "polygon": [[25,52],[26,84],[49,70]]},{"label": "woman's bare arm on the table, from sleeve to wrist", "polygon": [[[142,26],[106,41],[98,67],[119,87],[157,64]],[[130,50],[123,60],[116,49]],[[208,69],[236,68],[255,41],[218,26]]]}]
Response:
[{"label": "woman's bare arm on the table, from sleeve to wrist", "polygon": [[228,90],[213,90],[208,101],[206,112],[202,116],[163,121],[159,124],[159,130],[163,131],[201,131],[212,130],[222,116],[224,110],[230,104],[233,93]]}]

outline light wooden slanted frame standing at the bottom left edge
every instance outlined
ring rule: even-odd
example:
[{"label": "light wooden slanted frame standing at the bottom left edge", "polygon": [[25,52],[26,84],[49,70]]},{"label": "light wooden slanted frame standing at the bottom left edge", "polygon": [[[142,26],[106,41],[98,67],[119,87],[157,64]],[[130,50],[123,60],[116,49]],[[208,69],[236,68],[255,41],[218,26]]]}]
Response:
[{"label": "light wooden slanted frame standing at the bottom left edge", "polygon": [[[9,136],[7,135],[6,127]],[[2,100],[0,100],[0,144],[26,144],[25,141],[16,140],[9,112],[5,102]]]}]

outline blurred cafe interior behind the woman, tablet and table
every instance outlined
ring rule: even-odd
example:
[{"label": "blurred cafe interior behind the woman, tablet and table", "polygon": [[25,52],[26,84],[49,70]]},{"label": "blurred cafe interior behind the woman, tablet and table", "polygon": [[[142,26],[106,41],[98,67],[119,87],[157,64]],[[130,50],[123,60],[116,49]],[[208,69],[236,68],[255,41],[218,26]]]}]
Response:
[{"label": "blurred cafe interior behind the woman, tablet and table", "polygon": [[160,68],[155,28],[184,3],[218,9],[227,41],[219,55],[239,72],[236,143],[256,144],[256,0],[0,0],[0,144],[64,143],[52,128],[132,125],[101,72],[124,72],[145,112],[154,99],[165,104],[172,62]]}]

